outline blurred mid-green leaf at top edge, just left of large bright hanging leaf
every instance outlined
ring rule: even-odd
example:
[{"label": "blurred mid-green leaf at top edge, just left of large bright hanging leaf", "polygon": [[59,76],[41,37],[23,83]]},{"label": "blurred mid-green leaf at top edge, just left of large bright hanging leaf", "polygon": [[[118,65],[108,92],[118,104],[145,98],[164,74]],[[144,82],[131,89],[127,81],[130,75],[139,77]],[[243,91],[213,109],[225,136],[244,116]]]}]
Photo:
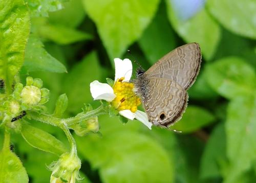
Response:
[{"label": "blurred mid-green leaf at top edge, just left of large bright hanging leaf", "polygon": [[52,24],[60,24],[70,28],[79,26],[86,16],[81,0],[71,0],[63,3],[63,9],[49,13]]}]

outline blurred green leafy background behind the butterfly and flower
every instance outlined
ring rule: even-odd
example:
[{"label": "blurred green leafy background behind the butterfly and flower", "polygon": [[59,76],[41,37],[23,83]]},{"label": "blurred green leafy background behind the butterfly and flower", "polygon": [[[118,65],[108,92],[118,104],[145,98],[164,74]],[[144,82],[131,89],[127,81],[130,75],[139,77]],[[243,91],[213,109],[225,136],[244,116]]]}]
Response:
[{"label": "blurred green leafy background behind the butterfly and flower", "polygon": [[[171,0],[25,0],[26,6],[22,0],[13,2],[23,24],[17,21],[9,27],[13,32],[1,32],[0,53],[19,62],[9,62],[0,75],[13,78],[25,52],[21,80],[25,82],[29,75],[44,81],[51,91],[50,112],[58,96],[66,93],[65,117],[79,113],[83,103],[99,105],[91,97],[90,82],[114,78],[113,58],[136,59],[147,69],[182,44],[198,42],[201,46],[201,71],[188,91],[183,118],[173,126],[182,133],[157,127],[149,131],[138,121],[123,125],[116,118],[101,116],[102,136],[76,136],[81,172],[86,177],[82,182],[256,181],[254,0],[208,0],[186,20],[178,18]],[[0,10],[1,28],[13,21],[7,16],[9,11]],[[65,151],[67,141],[61,130],[36,121],[31,125],[22,133],[28,143],[31,138],[40,141],[36,131],[45,130],[56,141],[50,145],[59,147],[53,153]],[[32,148],[20,135],[13,135],[14,152],[31,182],[49,181],[51,172],[45,165],[58,156]],[[0,158],[4,155],[13,153],[0,154]],[[12,166],[19,170],[17,174],[25,171],[18,158],[16,163]],[[27,179],[20,176],[20,182]]]}]

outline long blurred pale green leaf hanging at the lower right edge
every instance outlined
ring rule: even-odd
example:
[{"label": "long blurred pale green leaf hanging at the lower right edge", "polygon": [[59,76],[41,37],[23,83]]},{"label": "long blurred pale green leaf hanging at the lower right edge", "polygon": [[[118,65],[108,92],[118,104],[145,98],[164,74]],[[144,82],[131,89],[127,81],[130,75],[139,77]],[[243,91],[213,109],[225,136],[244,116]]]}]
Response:
[{"label": "long blurred pale green leaf hanging at the lower right edge", "polygon": [[230,169],[226,182],[233,182],[256,161],[256,97],[243,96],[231,100],[227,109],[227,157]]}]

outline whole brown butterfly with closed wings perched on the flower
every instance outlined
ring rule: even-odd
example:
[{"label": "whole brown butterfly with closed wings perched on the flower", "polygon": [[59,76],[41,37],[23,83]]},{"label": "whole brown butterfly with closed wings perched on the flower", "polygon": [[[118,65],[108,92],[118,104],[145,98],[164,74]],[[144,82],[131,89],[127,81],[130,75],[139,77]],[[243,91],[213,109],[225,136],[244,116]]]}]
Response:
[{"label": "whole brown butterfly with closed wings perched on the flower", "polygon": [[146,72],[137,72],[136,93],[151,123],[169,127],[182,117],[187,89],[195,82],[200,64],[200,47],[194,42],[169,52]]}]

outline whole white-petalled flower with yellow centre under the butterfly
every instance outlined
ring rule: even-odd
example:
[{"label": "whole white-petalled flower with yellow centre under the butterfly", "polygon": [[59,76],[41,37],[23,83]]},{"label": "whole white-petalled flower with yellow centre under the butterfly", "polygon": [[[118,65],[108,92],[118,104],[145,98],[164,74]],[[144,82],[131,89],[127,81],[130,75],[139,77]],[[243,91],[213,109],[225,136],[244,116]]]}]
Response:
[{"label": "whole white-petalled flower with yellow centre under the butterfly", "polygon": [[105,100],[115,106],[119,114],[127,119],[137,119],[151,129],[152,123],[148,121],[145,112],[137,110],[140,99],[133,92],[133,83],[130,81],[133,65],[130,59],[114,59],[115,62],[115,84],[113,88],[106,83],[93,81],[90,90],[94,100]]}]

